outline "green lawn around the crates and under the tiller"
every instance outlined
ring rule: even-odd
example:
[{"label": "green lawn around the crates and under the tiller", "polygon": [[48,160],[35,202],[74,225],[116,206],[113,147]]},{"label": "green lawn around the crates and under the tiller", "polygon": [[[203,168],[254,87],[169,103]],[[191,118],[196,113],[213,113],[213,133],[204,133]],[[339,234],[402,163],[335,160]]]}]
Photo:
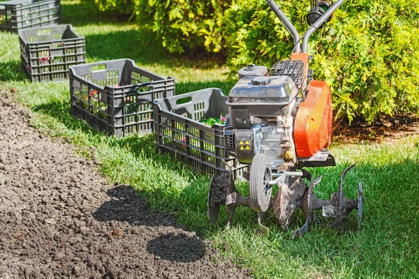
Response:
[{"label": "green lawn around the crates and under the tiller", "polygon": [[[63,19],[86,38],[88,61],[131,58],[158,75],[173,75],[177,93],[233,86],[211,59],[200,61],[166,53],[150,38],[140,38],[133,24],[109,17],[95,18],[78,2],[62,1]],[[210,179],[154,153],[154,138],[117,140],[98,133],[70,115],[68,82],[32,84],[20,70],[17,35],[0,33],[0,88],[16,89],[15,98],[34,112],[32,124],[52,137],[69,140],[83,156],[96,156],[110,181],[129,183],[147,197],[153,209],[172,213],[179,223],[202,234],[221,255],[251,268],[256,278],[419,278],[419,135],[393,144],[335,145],[337,167],[312,169],[323,175],[316,188],[328,198],[337,190],[341,171],[357,166],[346,178],[346,194],[356,197],[358,180],[365,183],[362,230],[355,231],[353,213],[348,233],[311,227],[301,239],[290,240],[274,217],[265,222],[270,236],[255,234],[256,216],[238,209],[236,225],[225,229],[223,211],[217,225],[207,221]],[[240,189],[245,192],[246,184]],[[228,243],[228,249],[224,249]]]}]

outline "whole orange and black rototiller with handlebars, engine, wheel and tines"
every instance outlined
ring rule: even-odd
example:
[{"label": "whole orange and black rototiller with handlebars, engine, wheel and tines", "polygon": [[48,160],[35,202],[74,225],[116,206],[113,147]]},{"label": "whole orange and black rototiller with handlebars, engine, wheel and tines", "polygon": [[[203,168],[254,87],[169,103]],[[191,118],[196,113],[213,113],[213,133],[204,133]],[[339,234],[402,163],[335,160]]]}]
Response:
[{"label": "whole orange and black rototiller with handlebars, engine, wheel and tines", "polygon": [[[362,181],[358,199],[344,195],[344,178],[351,165],[341,174],[339,190],[331,199],[319,199],[314,187],[321,177],[311,179],[303,167],[335,166],[335,158],[326,149],[332,137],[332,98],[326,82],[313,80],[307,54],[308,40],[316,29],[332,19],[344,0],[335,3],[311,0],[307,14],[310,27],[300,38],[297,30],[275,1],[265,0],[291,33],[294,49],[291,59],[265,66],[249,65],[239,71],[239,82],[228,94],[229,114],[224,143],[226,152],[240,163],[249,164],[249,197],[235,188],[231,172],[214,176],[208,194],[208,216],[218,220],[220,206],[226,207],[229,225],[237,206],[249,206],[258,213],[261,232],[267,234],[262,220],[271,208],[285,229],[297,208],[306,221],[293,232],[293,237],[307,232],[317,221],[316,210],[334,218],[328,225],[344,229],[344,219],[358,210],[358,229],[362,218]],[[303,178],[310,181],[309,185]],[[273,187],[279,186],[272,198]]]}]

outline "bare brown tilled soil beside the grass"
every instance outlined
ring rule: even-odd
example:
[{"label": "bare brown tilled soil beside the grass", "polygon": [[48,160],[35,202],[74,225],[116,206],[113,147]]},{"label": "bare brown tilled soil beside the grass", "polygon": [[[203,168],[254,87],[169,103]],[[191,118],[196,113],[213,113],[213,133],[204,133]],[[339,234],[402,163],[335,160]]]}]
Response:
[{"label": "bare brown tilled soil beside the grass", "polygon": [[29,118],[0,93],[0,278],[250,278]]}]

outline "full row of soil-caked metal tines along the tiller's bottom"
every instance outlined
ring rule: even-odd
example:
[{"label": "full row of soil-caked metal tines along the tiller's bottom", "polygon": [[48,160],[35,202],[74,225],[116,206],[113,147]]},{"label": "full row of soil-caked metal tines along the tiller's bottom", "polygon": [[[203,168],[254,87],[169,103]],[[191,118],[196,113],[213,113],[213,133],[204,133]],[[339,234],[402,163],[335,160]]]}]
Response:
[{"label": "full row of soil-caked metal tines along the tiller's bottom", "polygon": [[[221,205],[226,207],[228,213],[228,225],[233,225],[233,216],[237,206],[248,206],[258,212],[259,232],[269,234],[269,229],[262,225],[262,220],[269,209],[274,210],[279,225],[283,229],[287,229],[291,224],[291,216],[295,210],[300,207],[304,212],[306,221],[300,229],[292,232],[292,237],[302,236],[307,233],[311,223],[318,223],[315,211],[322,210],[322,215],[327,218],[335,218],[335,221],[328,226],[341,227],[344,232],[344,219],[353,209],[358,210],[358,229],[360,229],[362,220],[362,203],[364,201],[362,195],[362,181],[359,183],[358,199],[348,199],[344,193],[344,178],[346,173],[353,168],[354,165],[346,168],[341,174],[340,185],[337,193],[333,193],[330,199],[319,199],[314,193],[314,188],[321,182],[321,176],[311,181],[310,185],[304,182],[302,177],[311,179],[311,175],[304,174],[302,177],[279,176],[274,181],[267,181],[266,185],[278,184],[279,190],[273,199],[265,204],[265,211],[258,211],[254,208],[257,202],[251,197],[244,197],[235,188],[233,175],[231,173],[213,176],[208,193],[208,217],[212,223],[216,223],[219,218]],[[263,192],[264,193],[264,192]],[[269,194],[269,195],[268,195]],[[266,197],[270,197],[270,192]],[[264,196],[263,196],[264,197]]]}]

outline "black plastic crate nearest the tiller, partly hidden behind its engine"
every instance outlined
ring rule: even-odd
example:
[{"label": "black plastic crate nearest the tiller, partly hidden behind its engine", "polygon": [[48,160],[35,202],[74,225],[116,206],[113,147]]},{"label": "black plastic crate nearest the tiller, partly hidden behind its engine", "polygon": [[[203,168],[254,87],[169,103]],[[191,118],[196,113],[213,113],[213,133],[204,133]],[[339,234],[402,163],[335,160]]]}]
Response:
[{"label": "black plastic crate nearest the tiller, partly hidden behind its engine", "polygon": [[204,89],[154,100],[156,151],[191,165],[197,172],[223,174],[233,171],[239,178],[247,165],[226,153],[224,125],[212,127],[201,119],[228,114],[227,96],[220,89]]}]

